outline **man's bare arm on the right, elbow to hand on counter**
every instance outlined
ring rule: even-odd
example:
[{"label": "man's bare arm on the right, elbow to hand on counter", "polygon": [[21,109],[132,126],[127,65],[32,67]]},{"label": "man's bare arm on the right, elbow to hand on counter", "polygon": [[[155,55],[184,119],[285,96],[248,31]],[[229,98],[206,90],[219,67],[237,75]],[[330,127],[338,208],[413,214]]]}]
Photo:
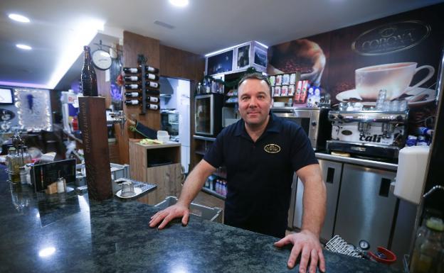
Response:
[{"label": "man's bare arm on the right, elbow to hand on counter", "polygon": [[300,233],[292,233],[275,243],[282,247],[292,243],[292,252],[288,258],[288,267],[295,266],[297,257],[300,255],[299,272],[307,272],[308,261],[310,260],[310,273],[316,272],[319,262],[319,269],[325,272],[325,260],[322,254],[322,247],[319,243],[319,233],[325,217],[325,206],[327,204],[327,191],[322,181],[319,165],[307,165],[297,170],[297,176],[304,184],[304,196],[302,199],[302,230]]}]

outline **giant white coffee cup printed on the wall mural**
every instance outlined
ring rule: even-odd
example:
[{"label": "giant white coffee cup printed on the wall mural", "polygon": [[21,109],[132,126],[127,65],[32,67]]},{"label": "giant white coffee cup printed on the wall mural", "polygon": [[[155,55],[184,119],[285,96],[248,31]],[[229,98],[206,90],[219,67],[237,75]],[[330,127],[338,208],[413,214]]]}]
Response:
[{"label": "giant white coffee cup printed on the wall mural", "polygon": [[[381,89],[387,90],[387,100],[396,99],[427,82],[435,73],[435,69],[430,65],[416,68],[417,65],[416,62],[398,62],[356,69],[354,72],[356,91],[363,101],[376,101]],[[413,75],[421,69],[428,69],[427,76],[413,87],[409,87]]]}]

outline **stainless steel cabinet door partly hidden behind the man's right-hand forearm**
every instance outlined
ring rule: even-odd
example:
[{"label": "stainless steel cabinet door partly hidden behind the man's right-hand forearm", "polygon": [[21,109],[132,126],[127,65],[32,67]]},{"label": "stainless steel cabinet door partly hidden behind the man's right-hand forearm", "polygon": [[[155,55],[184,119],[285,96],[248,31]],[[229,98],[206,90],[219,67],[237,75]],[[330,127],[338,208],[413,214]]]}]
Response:
[{"label": "stainless steel cabinet door partly hidden behind the man's right-hand forearm", "polygon": [[[336,216],[337,199],[339,194],[339,184],[341,183],[342,163],[329,160],[318,160],[322,172],[322,179],[327,188],[327,211],[325,213],[324,225],[321,230],[321,238],[329,240],[333,235],[334,218]],[[295,201],[295,221],[293,225],[302,227],[302,196],[304,185],[297,179],[296,201]]]}]

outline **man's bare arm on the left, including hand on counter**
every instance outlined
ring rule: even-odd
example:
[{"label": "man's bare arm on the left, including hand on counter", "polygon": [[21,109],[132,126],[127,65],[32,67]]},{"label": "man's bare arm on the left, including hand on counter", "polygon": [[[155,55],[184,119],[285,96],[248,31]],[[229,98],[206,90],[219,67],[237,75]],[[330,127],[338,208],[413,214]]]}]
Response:
[{"label": "man's bare arm on the left, including hand on counter", "polygon": [[162,229],[167,223],[169,223],[169,221],[178,217],[182,217],[182,224],[186,225],[188,223],[189,205],[191,204],[191,201],[193,201],[199,193],[207,177],[209,177],[215,170],[215,167],[211,166],[205,160],[201,160],[201,162],[194,167],[188,177],[186,177],[177,203],[154,214],[151,221],[149,221],[149,226],[153,228],[163,220],[159,225],[159,229]]}]

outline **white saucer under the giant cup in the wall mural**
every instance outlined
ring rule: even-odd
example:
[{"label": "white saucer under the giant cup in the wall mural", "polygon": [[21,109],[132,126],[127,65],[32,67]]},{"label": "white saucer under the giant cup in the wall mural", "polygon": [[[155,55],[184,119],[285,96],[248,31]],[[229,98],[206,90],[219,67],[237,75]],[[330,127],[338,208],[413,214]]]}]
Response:
[{"label": "white saucer under the giant cup in the wall mural", "polygon": [[[415,89],[411,89],[411,90],[407,91],[406,94],[412,95],[412,96],[406,97],[406,99],[405,99],[408,102],[408,106],[412,106],[412,107],[421,106],[423,104],[428,104],[430,101],[435,101],[435,90],[434,89],[416,87]],[[427,97],[427,99],[425,99],[425,101],[410,101],[413,98],[413,96],[415,96],[417,94],[421,94],[421,95],[427,94],[428,97]],[[356,89],[342,91],[341,93],[336,95],[336,99],[338,101],[342,101],[342,102],[349,102],[350,99],[354,99],[356,101],[359,101],[364,106],[375,106],[376,105],[375,101],[362,101],[362,98],[361,98],[361,96],[359,96],[358,91],[356,91]]]}]

